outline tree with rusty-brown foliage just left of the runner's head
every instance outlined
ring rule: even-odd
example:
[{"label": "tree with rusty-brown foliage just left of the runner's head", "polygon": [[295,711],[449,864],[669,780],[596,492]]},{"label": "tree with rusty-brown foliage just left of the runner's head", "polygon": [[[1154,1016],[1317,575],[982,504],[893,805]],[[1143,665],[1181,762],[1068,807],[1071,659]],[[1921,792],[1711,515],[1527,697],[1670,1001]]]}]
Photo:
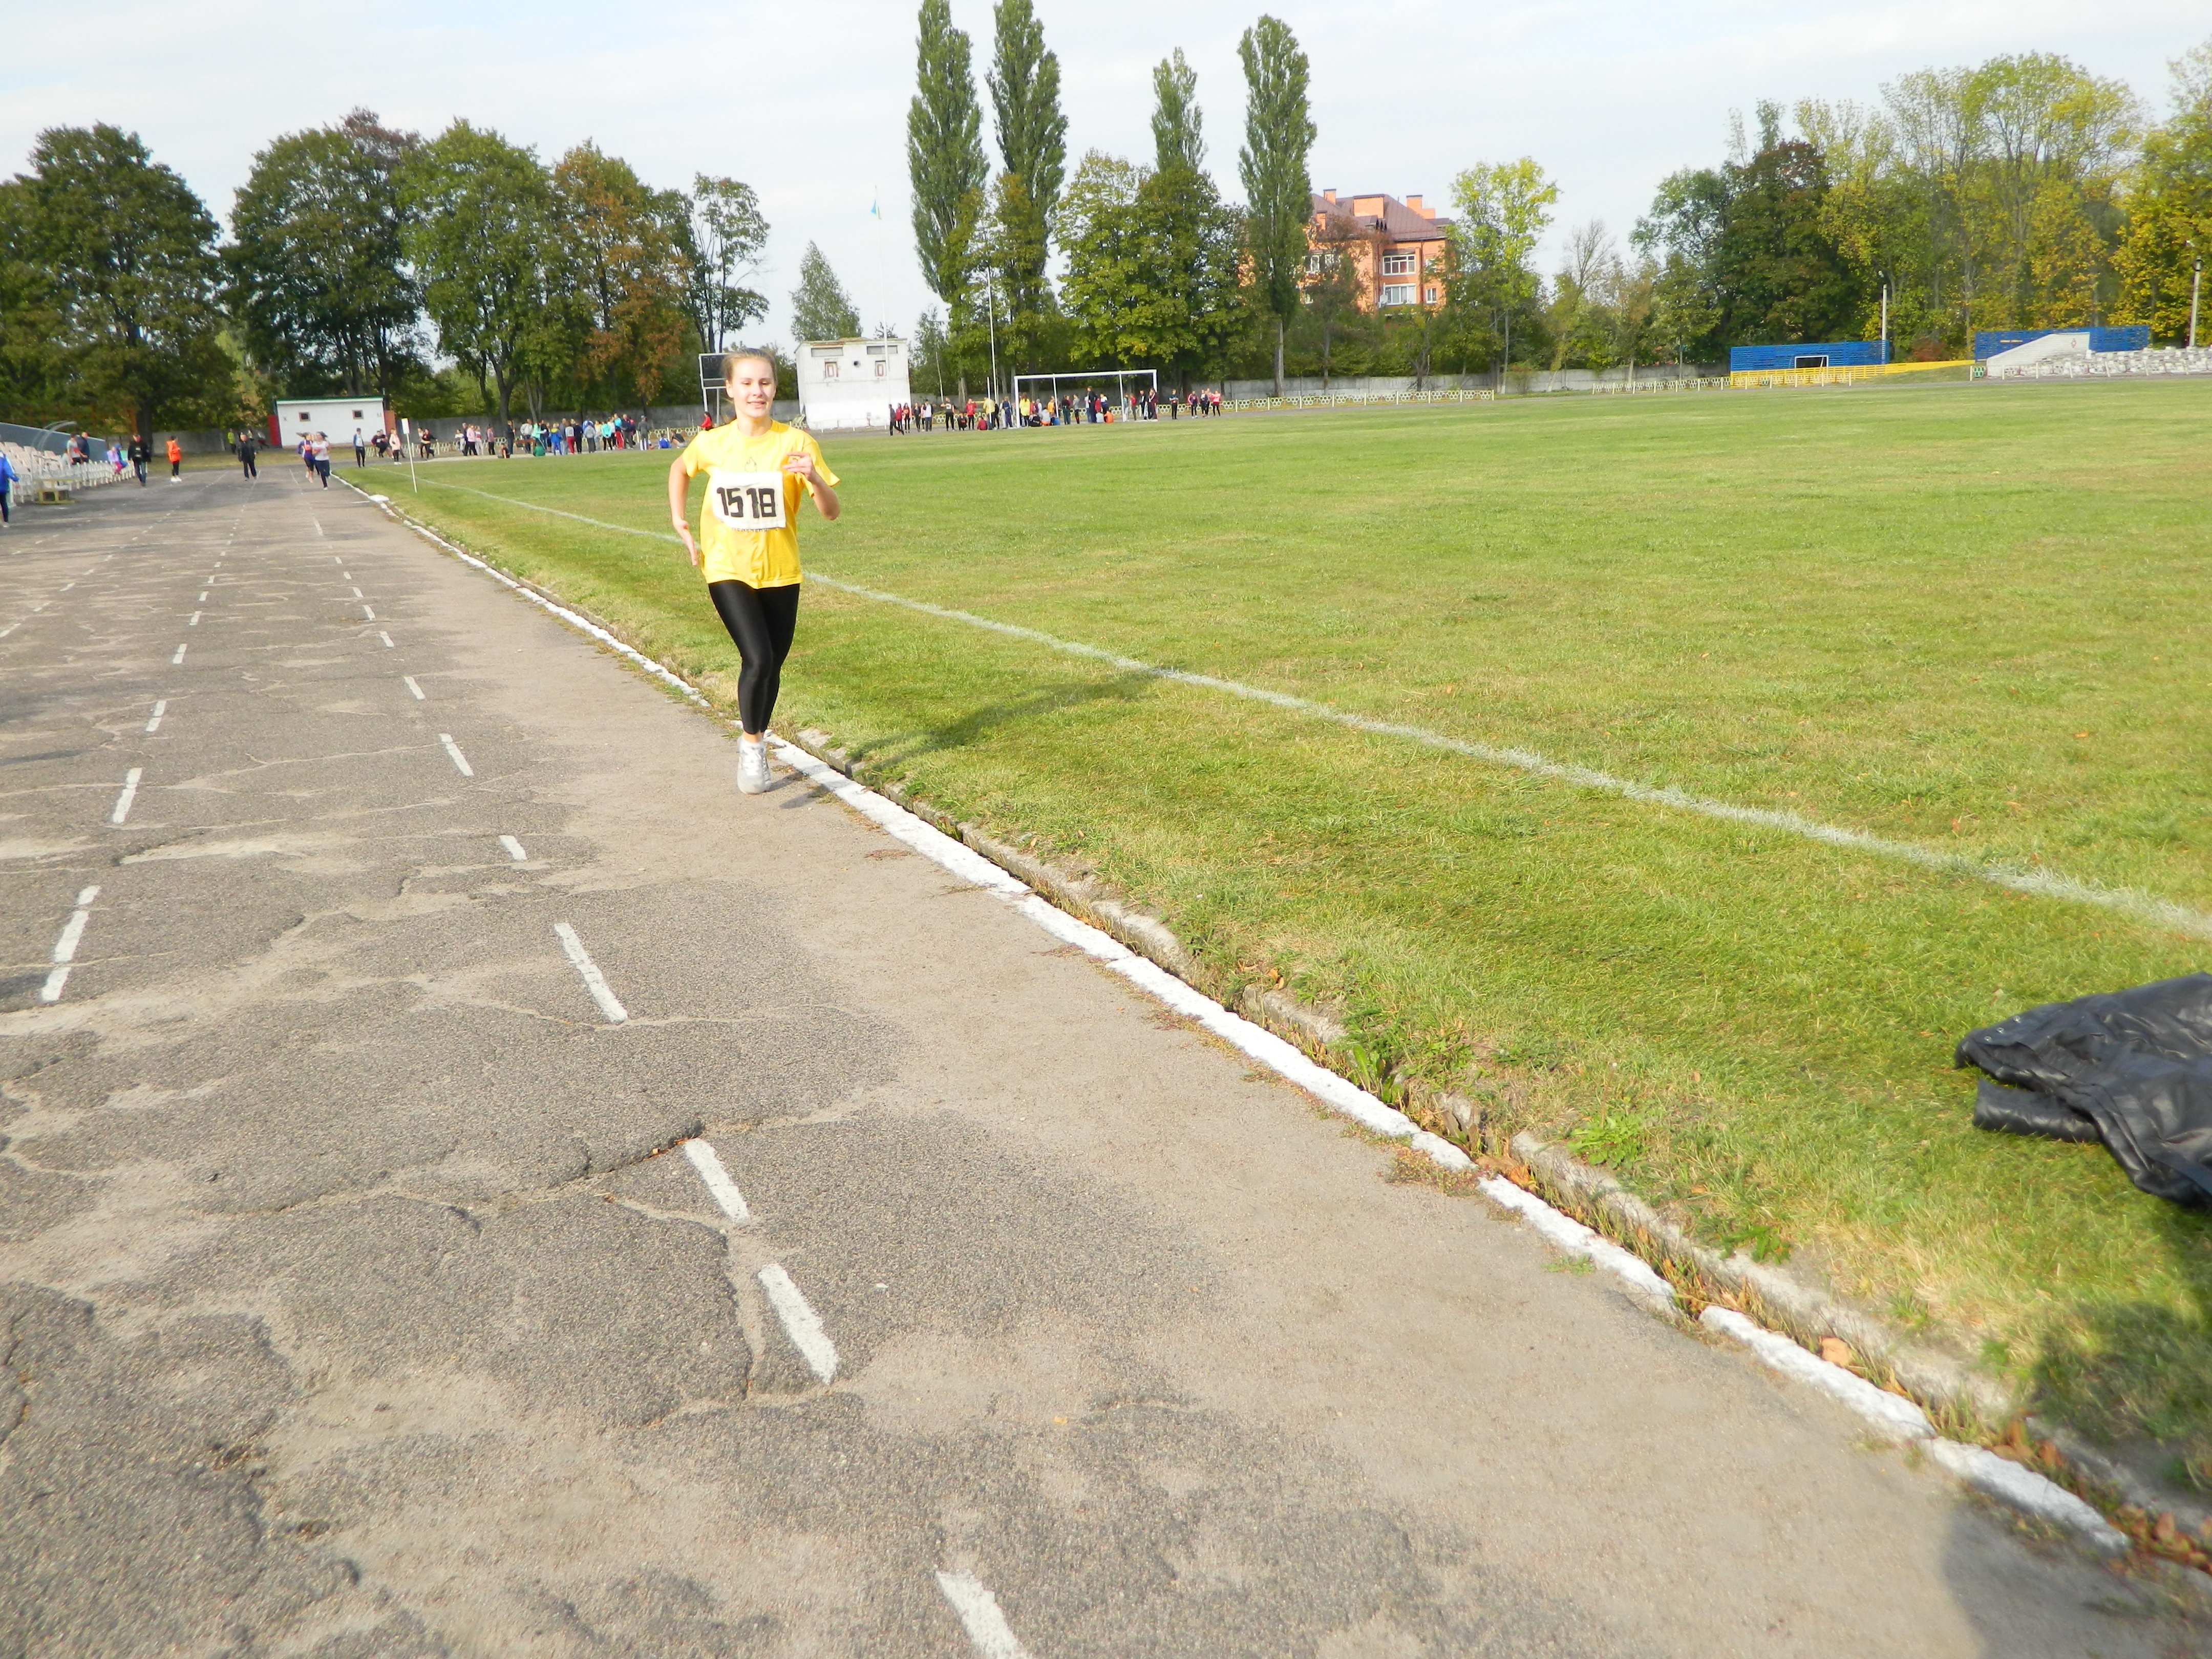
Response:
[{"label": "tree with rusty-brown foliage just left of the runner's head", "polygon": [[582,378],[597,394],[650,405],[684,349],[681,199],[650,190],[597,144],[577,144],[553,166],[553,208],[564,274],[582,301]]}]

